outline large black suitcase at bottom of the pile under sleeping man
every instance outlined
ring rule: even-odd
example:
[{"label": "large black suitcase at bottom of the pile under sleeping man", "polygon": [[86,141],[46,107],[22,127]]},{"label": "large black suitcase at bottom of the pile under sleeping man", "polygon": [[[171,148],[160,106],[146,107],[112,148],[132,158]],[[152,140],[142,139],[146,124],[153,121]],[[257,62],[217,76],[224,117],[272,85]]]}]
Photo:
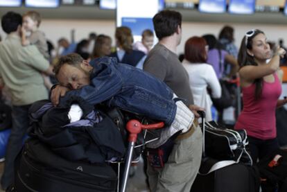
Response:
[{"label": "large black suitcase at bottom of the pile under sleeping man", "polygon": [[19,192],[94,192],[116,188],[117,175],[109,165],[67,161],[37,139],[26,141],[15,162],[15,189]]}]

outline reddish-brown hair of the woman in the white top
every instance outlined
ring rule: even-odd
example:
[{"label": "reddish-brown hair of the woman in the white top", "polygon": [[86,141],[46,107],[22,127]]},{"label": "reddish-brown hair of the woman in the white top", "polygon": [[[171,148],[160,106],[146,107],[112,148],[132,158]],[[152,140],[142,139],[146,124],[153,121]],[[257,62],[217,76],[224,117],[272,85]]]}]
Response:
[{"label": "reddish-brown hair of the woman in the white top", "polygon": [[207,61],[207,42],[202,37],[191,37],[185,42],[184,58],[191,63],[204,63]]}]

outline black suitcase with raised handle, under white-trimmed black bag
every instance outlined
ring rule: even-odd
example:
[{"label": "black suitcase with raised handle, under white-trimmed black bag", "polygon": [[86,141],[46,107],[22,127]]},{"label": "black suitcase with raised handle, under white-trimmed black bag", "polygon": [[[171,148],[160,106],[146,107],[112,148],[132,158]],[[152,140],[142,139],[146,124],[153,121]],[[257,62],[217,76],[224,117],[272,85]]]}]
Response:
[{"label": "black suitcase with raised handle, under white-trimmed black bag", "polygon": [[[205,132],[204,114],[202,114],[202,122],[202,131]],[[259,171],[255,166],[246,166],[245,164],[237,164],[234,161],[220,161],[206,157],[205,148],[199,172],[193,182],[191,192],[259,191]]]}]

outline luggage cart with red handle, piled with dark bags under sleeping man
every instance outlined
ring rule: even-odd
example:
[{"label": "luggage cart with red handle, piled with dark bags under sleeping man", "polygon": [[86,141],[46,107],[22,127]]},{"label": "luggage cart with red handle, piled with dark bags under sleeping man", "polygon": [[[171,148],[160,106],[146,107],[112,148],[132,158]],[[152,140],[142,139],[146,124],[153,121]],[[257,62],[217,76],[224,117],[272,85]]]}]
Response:
[{"label": "luggage cart with red handle, piled with dark bags under sleeping man", "polygon": [[[26,141],[15,163],[13,187],[20,192],[92,192],[119,189],[123,192],[128,181],[130,164],[137,157],[137,152],[141,153],[140,149],[144,144],[158,139],[155,135],[148,134],[147,130],[164,126],[163,122],[150,124],[141,119],[142,123],[148,123],[143,125],[137,118],[130,119],[130,116],[124,116],[129,118],[123,119],[118,112],[111,117],[102,113],[98,117],[101,121],[93,125],[82,126],[80,123],[85,120],[84,116],[73,126],[71,123],[66,126],[64,123],[67,122],[62,116],[67,118],[67,108],[53,108],[47,101],[34,103],[30,112],[31,138]],[[92,121],[92,117],[88,120]],[[58,125],[59,122],[64,125]],[[144,137],[138,139],[138,134],[143,132]],[[128,141],[127,150],[123,147],[126,153],[119,158],[119,153],[112,149],[124,146],[123,139]],[[139,140],[143,143],[137,142]],[[112,146],[112,141],[117,141],[118,144]],[[121,166],[123,163],[125,166]]]}]

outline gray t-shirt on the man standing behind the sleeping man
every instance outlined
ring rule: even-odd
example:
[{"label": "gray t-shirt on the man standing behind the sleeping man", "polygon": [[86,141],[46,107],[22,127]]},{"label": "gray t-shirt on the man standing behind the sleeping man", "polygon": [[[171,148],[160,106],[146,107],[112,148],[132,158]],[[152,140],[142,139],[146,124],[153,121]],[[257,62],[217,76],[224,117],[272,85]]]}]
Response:
[{"label": "gray t-shirt on the man standing behind the sleeping man", "polygon": [[143,70],[164,81],[178,97],[186,99],[184,104],[193,104],[189,74],[178,60],[177,55],[165,46],[159,43],[155,45],[146,57]]}]

